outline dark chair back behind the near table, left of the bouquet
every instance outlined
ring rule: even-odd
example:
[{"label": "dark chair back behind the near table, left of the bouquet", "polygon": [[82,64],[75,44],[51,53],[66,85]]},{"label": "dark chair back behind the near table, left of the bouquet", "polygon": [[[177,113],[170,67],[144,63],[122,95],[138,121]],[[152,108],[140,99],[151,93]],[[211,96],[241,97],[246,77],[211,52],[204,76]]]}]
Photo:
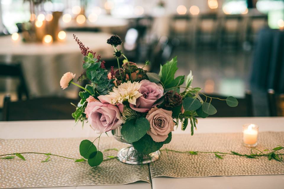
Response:
[{"label": "dark chair back behind the near table, left of the bouquet", "polygon": [[10,96],[4,98],[2,112],[3,121],[19,120],[59,120],[72,119],[71,114],[75,112],[75,105],[79,100],[62,97],[43,97],[30,100],[11,102]]}]

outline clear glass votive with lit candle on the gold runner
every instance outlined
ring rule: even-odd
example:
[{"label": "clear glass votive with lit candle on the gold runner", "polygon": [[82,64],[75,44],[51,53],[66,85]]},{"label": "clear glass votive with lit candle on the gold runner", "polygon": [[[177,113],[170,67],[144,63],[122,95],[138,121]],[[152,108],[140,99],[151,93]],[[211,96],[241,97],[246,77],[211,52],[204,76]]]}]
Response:
[{"label": "clear glass votive with lit candle on the gold runner", "polygon": [[255,147],[257,145],[258,126],[255,124],[243,125],[243,145]]}]

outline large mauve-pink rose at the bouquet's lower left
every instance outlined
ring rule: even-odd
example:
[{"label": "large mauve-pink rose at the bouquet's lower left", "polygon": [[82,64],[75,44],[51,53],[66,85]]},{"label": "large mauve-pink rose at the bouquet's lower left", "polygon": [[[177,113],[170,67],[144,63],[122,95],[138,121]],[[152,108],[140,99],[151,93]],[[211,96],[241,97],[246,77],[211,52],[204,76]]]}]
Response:
[{"label": "large mauve-pink rose at the bouquet's lower left", "polygon": [[101,96],[98,98],[102,99],[101,102],[88,102],[85,108],[91,128],[96,133],[104,133],[120,126],[122,124],[120,108],[105,102]]}]

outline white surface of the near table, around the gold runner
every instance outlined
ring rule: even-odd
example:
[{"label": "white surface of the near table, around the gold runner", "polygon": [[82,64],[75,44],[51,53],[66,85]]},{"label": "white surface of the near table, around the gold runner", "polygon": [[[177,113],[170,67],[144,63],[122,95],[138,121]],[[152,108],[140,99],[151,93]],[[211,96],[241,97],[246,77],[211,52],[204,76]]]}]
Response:
[{"label": "white surface of the near table, around the gold runner", "polygon": [[[206,118],[198,119],[198,130],[195,133],[235,133],[242,132],[242,125],[254,123],[259,131],[284,131],[284,117],[263,118]],[[190,129],[181,131],[180,127],[173,134],[190,134]],[[111,135],[111,133],[109,133]],[[43,121],[12,121],[0,122],[0,139],[34,139],[34,138],[71,138],[96,137],[98,134],[88,127],[77,126],[74,120],[43,120]],[[106,137],[106,135],[102,135]],[[190,137],[194,137],[190,136]],[[79,149],[78,149],[79,150]],[[225,161],[225,160],[224,160]],[[255,160],[257,161],[257,160]],[[281,164],[282,162],[280,162]],[[164,188],[281,188],[284,185],[284,175],[257,175],[257,176],[221,176],[221,177],[193,177],[193,178],[152,178],[153,189]],[[58,187],[57,187],[58,188]],[[77,186],[68,187],[90,188],[151,188],[146,182],[136,182],[128,185],[112,186]]]}]

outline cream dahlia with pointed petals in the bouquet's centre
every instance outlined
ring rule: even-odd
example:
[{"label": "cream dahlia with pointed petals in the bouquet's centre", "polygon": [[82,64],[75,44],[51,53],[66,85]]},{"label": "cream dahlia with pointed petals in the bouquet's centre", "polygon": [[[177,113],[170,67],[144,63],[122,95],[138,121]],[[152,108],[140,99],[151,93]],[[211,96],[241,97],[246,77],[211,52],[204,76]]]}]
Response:
[{"label": "cream dahlia with pointed petals in the bouquet's centre", "polygon": [[136,99],[142,94],[138,91],[141,87],[141,84],[138,82],[131,83],[127,81],[118,86],[118,88],[113,87],[113,92],[106,94],[110,98],[111,104],[120,103],[123,101],[128,101],[130,104],[136,105]]}]

